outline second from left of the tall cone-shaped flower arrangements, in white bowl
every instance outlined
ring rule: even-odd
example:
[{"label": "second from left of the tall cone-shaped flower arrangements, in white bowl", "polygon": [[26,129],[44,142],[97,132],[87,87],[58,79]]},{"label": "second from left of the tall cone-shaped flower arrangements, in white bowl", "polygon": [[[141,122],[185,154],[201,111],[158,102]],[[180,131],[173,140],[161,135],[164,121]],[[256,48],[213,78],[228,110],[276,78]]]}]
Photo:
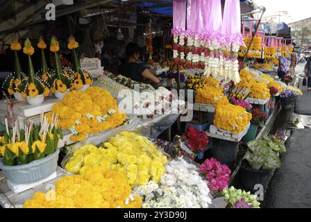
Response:
[{"label": "second from left of the tall cone-shaped flower arrangements, in white bowl", "polygon": [[26,96],[27,102],[31,105],[40,105],[44,101],[44,96],[49,96],[49,87],[47,87],[39,76],[35,76],[31,56],[35,49],[31,46],[31,41],[27,38],[24,43],[23,51],[28,55],[28,76],[24,76],[22,83],[24,89],[22,96]]}]

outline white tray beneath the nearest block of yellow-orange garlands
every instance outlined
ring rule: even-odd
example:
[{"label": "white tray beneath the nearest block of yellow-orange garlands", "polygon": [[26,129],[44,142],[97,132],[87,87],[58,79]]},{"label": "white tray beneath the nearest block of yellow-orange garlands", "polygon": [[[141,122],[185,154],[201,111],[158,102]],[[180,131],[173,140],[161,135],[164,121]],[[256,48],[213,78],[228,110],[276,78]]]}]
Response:
[{"label": "white tray beneath the nearest block of yellow-orange garlands", "polygon": [[247,131],[249,130],[249,127],[251,126],[251,123],[249,123],[244,131],[238,134],[232,134],[228,130],[221,130],[217,128],[216,126],[211,125],[210,130],[208,130],[208,136],[217,138],[217,139],[224,139],[232,142],[239,142],[244,135],[246,135]]}]

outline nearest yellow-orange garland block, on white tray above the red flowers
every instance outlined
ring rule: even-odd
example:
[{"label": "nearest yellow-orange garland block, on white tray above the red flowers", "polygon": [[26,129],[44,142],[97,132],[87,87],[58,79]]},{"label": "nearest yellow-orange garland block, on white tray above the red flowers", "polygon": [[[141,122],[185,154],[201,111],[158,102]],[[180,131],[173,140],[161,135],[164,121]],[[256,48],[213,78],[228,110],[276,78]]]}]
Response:
[{"label": "nearest yellow-orange garland block, on white tray above the red flowers", "polygon": [[241,133],[251,121],[251,113],[238,105],[225,103],[216,105],[214,126],[233,134]]}]

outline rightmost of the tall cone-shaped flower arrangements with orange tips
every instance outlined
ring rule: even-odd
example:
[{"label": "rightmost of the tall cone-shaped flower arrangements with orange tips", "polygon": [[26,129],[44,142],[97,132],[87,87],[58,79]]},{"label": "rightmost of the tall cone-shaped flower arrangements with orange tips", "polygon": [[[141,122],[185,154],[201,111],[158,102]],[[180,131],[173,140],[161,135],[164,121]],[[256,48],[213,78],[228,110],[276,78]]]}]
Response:
[{"label": "rightmost of the tall cone-shaped flower arrangements with orange tips", "polygon": [[76,53],[78,46],[78,42],[76,42],[74,37],[71,35],[69,37],[67,47],[69,50],[72,50],[72,55],[74,58],[74,89],[85,91],[87,87],[90,87],[90,85],[93,84],[93,78],[91,74],[81,69],[81,65]]}]

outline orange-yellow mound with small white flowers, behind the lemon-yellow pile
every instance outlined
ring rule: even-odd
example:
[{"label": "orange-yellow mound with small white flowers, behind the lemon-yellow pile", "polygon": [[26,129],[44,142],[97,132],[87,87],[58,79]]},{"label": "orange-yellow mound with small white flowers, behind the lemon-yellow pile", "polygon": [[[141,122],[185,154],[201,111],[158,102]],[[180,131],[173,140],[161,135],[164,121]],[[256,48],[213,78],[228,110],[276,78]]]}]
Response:
[{"label": "orange-yellow mound with small white flowers, behind the lemon-yellow pile", "polygon": [[99,87],[69,92],[53,105],[52,112],[59,115],[60,128],[72,131],[70,139],[74,142],[82,141],[89,133],[116,128],[126,120],[126,114],[118,111],[117,101],[110,92]]}]

